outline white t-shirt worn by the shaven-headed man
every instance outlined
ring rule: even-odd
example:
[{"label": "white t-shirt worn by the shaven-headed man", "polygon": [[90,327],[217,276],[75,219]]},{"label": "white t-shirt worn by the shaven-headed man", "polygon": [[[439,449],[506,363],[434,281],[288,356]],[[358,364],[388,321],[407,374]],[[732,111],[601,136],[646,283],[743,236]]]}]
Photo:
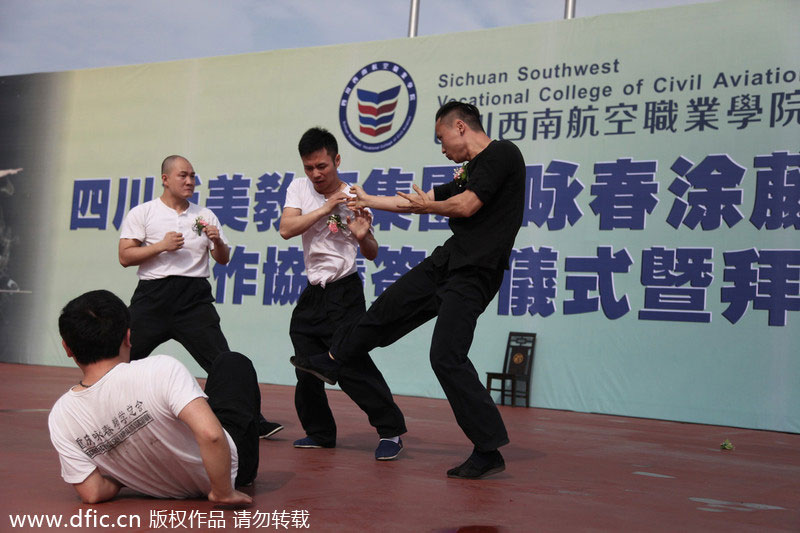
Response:
[{"label": "white t-shirt worn by the shaven-headed man", "polygon": [[210,225],[218,227],[220,238],[228,245],[219,219],[207,207],[189,202],[189,208],[178,213],[167,207],[161,198],[156,198],[139,204],[128,212],[122,221],[120,239],[136,239],[142,242],[142,246],[150,246],[164,239],[167,232],[177,231],[183,234],[183,248],[174,252],[161,252],[139,265],[139,279],[210,276],[208,252],[214,249],[214,243],[205,233],[198,235],[193,228],[197,217],[202,217]]}]

